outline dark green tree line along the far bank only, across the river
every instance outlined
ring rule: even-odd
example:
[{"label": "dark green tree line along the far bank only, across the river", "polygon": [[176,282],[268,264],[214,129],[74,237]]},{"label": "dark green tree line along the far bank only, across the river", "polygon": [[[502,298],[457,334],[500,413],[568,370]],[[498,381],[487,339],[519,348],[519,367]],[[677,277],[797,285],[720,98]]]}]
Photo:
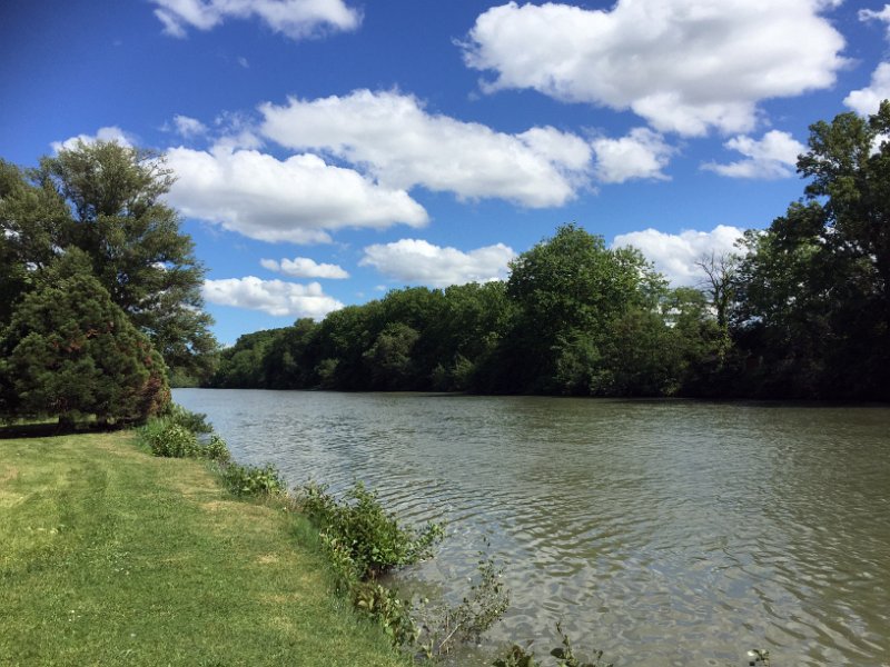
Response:
[{"label": "dark green tree line along the far bank only, across the river", "polygon": [[801,199],[695,288],[566,225],[505,281],[243,336],[207,386],[890,399],[890,106],[810,131]]}]

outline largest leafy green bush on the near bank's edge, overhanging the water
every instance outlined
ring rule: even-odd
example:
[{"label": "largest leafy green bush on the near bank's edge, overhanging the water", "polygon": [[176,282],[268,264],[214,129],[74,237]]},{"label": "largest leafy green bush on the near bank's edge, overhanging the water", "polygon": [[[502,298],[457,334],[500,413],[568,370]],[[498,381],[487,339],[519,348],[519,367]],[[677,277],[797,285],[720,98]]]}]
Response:
[{"label": "largest leafy green bush on the near bank's edge, overhanging the water", "polygon": [[433,546],[444,535],[437,524],[421,530],[402,526],[395,515],[383,508],[376,491],[360,481],[339,501],[327,492],[327,487],[307,484],[298,502],[322,530],[334,563],[346,578],[375,579],[417,563],[432,555]]}]

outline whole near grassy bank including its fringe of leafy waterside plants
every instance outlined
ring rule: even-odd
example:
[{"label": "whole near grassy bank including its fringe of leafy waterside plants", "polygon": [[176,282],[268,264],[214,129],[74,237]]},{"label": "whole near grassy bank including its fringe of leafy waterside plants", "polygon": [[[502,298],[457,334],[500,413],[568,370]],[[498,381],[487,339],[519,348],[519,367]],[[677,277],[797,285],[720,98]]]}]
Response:
[{"label": "whole near grassy bank including its fringe of leafy waterside plants", "polygon": [[[485,551],[458,605],[403,599],[379,576],[432,557],[441,525],[400,525],[360,482],[290,494],[179,406],[137,430],[9,430],[0,664],[436,664],[508,607]],[[554,665],[611,667],[577,661],[560,633]],[[502,654],[486,664],[542,665]]]}]

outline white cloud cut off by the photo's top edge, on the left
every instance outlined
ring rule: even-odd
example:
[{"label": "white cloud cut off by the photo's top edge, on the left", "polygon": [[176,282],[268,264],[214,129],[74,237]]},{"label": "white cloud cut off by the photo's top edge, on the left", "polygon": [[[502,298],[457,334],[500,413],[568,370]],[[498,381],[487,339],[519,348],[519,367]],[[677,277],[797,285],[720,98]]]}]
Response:
[{"label": "white cloud cut off by the photo's top edge, on the left", "polygon": [[291,39],[325,30],[355,30],[362,13],[343,0],[151,0],[164,32],[186,37],[186,29],[210,30],[226,19],[258,18]]}]

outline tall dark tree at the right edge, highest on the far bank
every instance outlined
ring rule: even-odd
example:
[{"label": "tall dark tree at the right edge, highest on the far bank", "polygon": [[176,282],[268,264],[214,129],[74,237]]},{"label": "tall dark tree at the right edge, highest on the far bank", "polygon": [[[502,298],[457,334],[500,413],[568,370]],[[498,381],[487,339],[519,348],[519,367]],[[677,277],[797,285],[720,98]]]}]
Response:
[{"label": "tall dark tree at the right edge, highest on the far bank", "polygon": [[735,317],[753,391],[890,398],[890,103],[810,128],[805,201],[750,232]]}]

